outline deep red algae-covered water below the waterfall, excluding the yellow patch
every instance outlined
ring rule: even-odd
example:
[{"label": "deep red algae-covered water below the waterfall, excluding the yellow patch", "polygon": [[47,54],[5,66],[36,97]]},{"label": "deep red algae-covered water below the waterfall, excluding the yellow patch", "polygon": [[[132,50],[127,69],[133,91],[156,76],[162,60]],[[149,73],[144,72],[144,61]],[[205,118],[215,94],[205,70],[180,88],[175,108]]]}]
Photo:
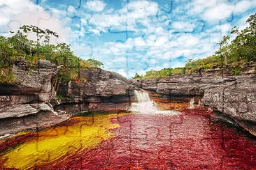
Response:
[{"label": "deep red algae-covered water below the waterfall, excluding the yellow patch", "polygon": [[[255,169],[256,141],[211,120],[206,109],[180,116],[129,114],[113,118],[117,134],[94,149],[41,169]],[[38,167],[39,168],[39,167]]]}]

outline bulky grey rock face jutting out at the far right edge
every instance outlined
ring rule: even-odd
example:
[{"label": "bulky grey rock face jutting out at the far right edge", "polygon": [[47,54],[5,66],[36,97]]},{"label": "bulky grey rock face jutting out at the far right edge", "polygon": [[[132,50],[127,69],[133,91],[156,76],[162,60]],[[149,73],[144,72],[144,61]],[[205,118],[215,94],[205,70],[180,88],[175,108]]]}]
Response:
[{"label": "bulky grey rock face jutting out at the far right edge", "polygon": [[202,102],[240,121],[256,123],[256,77],[236,77],[232,86],[207,89]]}]

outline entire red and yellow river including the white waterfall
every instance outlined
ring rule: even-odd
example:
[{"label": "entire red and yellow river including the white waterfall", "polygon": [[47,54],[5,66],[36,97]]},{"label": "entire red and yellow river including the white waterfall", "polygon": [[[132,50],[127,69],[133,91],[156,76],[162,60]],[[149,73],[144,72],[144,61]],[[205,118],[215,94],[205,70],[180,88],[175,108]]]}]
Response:
[{"label": "entire red and yellow river including the white waterfall", "polygon": [[[131,113],[75,116],[0,144],[2,169],[255,169],[256,141],[201,105],[150,100]],[[159,109],[161,108],[161,109]],[[177,111],[177,109],[179,111]]]}]

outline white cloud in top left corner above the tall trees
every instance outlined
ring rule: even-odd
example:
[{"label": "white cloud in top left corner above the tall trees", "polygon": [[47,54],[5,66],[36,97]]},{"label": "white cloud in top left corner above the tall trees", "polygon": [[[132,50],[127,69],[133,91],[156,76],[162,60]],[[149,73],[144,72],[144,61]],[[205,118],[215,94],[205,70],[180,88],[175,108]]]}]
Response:
[{"label": "white cloud in top left corner above the tall trees", "polygon": [[[13,1],[1,1],[1,17],[3,20],[0,22],[0,27],[6,32],[17,31],[20,26],[24,24],[35,25],[42,29],[50,29],[59,34],[59,38],[51,38],[51,43],[66,42],[69,35],[69,28],[65,28],[56,16],[59,13],[58,10],[51,10],[51,14],[45,12],[45,10],[29,0],[13,0]],[[7,25],[7,26],[6,26]],[[35,39],[30,34],[29,38]]]}]

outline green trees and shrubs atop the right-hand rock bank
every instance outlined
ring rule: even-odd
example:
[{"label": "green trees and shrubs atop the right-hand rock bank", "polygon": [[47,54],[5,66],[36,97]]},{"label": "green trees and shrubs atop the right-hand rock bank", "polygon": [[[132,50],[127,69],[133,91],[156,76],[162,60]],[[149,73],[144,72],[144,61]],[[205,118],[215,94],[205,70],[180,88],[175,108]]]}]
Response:
[{"label": "green trees and shrubs atop the right-hand rock bank", "polygon": [[230,31],[230,36],[224,36],[218,43],[219,49],[212,56],[196,61],[190,59],[184,68],[164,68],[162,70],[149,70],[145,75],[136,73],[134,79],[151,79],[155,77],[168,77],[172,75],[191,74],[210,68],[231,67],[232,75],[241,75],[235,66],[239,63],[256,62],[256,13],[246,22],[249,26],[239,31],[236,26]]}]

